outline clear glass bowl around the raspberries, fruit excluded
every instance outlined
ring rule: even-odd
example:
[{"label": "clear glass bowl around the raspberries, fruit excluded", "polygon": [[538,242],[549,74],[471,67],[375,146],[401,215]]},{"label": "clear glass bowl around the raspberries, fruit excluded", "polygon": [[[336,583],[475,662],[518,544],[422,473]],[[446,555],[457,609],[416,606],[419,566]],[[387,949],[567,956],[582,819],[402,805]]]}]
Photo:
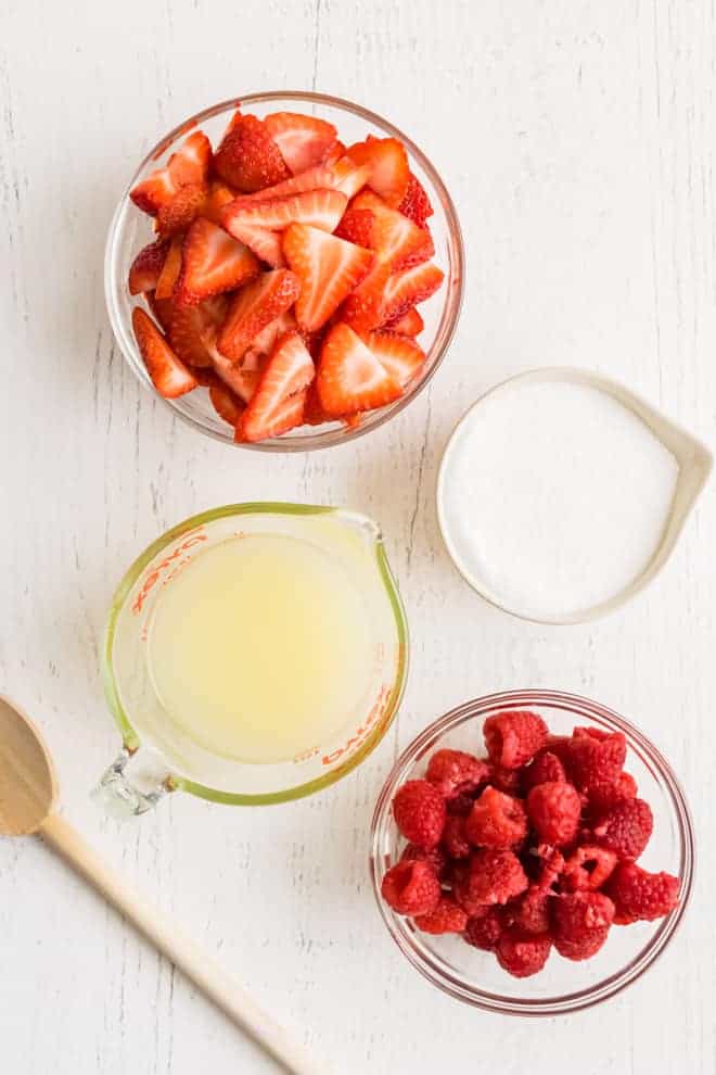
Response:
[{"label": "clear glass bowl around the raspberries, fruit excluded", "polygon": [[[475,751],[482,725],[504,709],[536,710],[551,732],[570,733],[575,724],[622,731],[627,739],[625,769],[635,776],[639,794],[654,813],[654,832],[639,860],[647,870],[666,870],[681,881],[681,898],[669,915],[656,922],[613,926],[606,944],[592,959],[576,963],[552,952],[545,970],[530,978],[513,978],[491,952],[466,945],[457,936],[420,933],[381,897],[381,881],[396,863],[404,838],[393,820],[391,804],[397,788],[422,774],[427,757],[440,747]],[[691,894],[693,827],[683,793],[666,759],[623,717],[587,698],[558,691],[510,691],[468,701],[435,721],[404,750],[378,800],[371,827],[370,869],[383,921],[400,951],[433,985],[486,1011],[508,1015],[561,1015],[613,997],[648,970],[674,936]]]}]

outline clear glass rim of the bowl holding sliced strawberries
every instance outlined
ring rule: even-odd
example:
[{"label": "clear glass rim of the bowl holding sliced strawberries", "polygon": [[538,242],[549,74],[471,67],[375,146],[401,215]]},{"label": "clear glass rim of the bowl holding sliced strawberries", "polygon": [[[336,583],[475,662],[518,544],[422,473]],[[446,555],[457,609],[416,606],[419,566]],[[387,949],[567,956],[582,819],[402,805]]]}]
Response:
[{"label": "clear glass rim of the bowl holding sliced strawberries", "polygon": [[[455,258],[455,265],[450,266],[450,274],[446,279],[446,299],[437,328],[437,334],[427,355],[429,359],[433,356],[435,357],[424,377],[422,377],[421,380],[406,393],[406,395],[401,396],[400,400],[397,400],[383,410],[376,412],[373,419],[369,419],[354,429],[333,429],[323,433],[293,438],[284,435],[283,438],[273,438],[261,441],[257,444],[244,444],[236,443],[234,441],[230,441],[226,437],[221,437],[215,430],[207,428],[201,421],[191,417],[191,415],[187,415],[182,410],[179,410],[174,405],[171,400],[164,399],[164,396],[159,395],[159,393],[152,385],[149,377],[143,371],[143,365],[140,364],[135,341],[131,338],[127,326],[124,324],[115,299],[115,295],[120,287],[120,281],[118,281],[116,275],[116,265],[118,260],[117,248],[120,238],[120,224],[123,222],[124,213],[128,206],[129,191],[138,181],[143,169],[161,156],[168,146],[170,146],[182,134],[192,129],[196,125],[204,123],[214,116],[220,115],[222,112],[229,112],[235,109],[240,103],[242,105],[251,105],[272,101],[301,101],[309,105],[324,105],[334,109],[343,109],[344,111],[350,112],[353,115],[358,116],[360,119],[374,125],[385,131],[388,136],[399,138],[406,144],[409,154],[411,154],[419,162],[420,166],[429,176],[431,184],[437,192],[448,223],[451,256]],[[405,135],[398,127],[394,126],[387,119],[384,119],[376,112],[371,112],[369,109],[365,109],[362,105],[355,104],[353,101],[347,101],[344,98],[332,97],[328,93],[315,93],[309,90],[268,90],[266,92],[246,93],[241,97],[230,98],[227,101],[221,101],[219,104],[214,104],[208,109],[204,109],[201,112],[195,113],[195,115],[184,119],[182,123],[174,127],[174,129],[167,135],[164,135],[144,156],[143,161],[136,169],[123,191],[117,207],[113,214],[112,223],[110,224],[104,253],[104,295],[107,313],[110,315],[110,324],[125,361],[143,388],[151,392],[154,397],[159,400],[165,407],[168,407],[172,415],[176,415],[192,428],[200,430],[206,437],[212,437],[221,444],[232,444],[239,448],[256,452],[310,452],[318,448],[332,447],[336,444],[346,444],[359,437],[365,437],[366,433],[369,433],[374,429],[379,429],[386,421],[389,421],[391,418],[394,418],[396,415],[400,414],[400,412],[412,403],[412,401],[417,399],[422,390],[430,383],[437,368],[442,365],[445,355],[447,354],[447,350],[455,336],[460,317],[460,311],[462,308],[464,275],[464,242],[462,239],[462,230],[460,228],[460,222],[458,219],[455,203],[452,202],[447,187],[440,179],[436,168],[425,156],[422,150],[415,146],[411,138]]]}]

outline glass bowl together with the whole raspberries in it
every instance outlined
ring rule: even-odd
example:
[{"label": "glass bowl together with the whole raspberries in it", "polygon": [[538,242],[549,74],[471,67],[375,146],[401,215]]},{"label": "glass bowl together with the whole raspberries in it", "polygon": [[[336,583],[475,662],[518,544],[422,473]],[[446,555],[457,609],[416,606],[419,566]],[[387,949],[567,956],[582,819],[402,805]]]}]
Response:
[{"label": "glass bowl together with the whole raspberries in it", "polygon": [[576,695],[495,694],[404,751],[372,822],[371,871],[402,953],[450,996],[513,1015],[605,1000],[686,909],[689,809],[668,762]]}]

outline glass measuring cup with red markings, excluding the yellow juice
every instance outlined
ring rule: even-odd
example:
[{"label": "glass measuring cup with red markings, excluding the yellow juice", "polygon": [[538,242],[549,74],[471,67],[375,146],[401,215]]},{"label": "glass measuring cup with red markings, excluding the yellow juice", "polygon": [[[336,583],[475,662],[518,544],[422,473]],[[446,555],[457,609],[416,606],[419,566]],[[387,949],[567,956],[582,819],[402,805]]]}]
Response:
[{"label": "glass measuring cup with red markings, excluding the yellow juice", "polygon": [[[349,573],[370,630],[368,703],[328,742],[276,762],[247,762],[200,744],[166,711],[149,663],[153,617],[167,587],[207,549],[235,538],[299,539]],[[233,504],[194,516],[154,542],[114,595],[103,647],[105,696],[123,750],[94,796],[129,817],[169,791],[216,802],[259,805],[310,795],[340,780],[376,746],[405,687],[408,631],[379,527],[354,511],[299,504]],[[276,670],[281,674],[281,669]]]}]

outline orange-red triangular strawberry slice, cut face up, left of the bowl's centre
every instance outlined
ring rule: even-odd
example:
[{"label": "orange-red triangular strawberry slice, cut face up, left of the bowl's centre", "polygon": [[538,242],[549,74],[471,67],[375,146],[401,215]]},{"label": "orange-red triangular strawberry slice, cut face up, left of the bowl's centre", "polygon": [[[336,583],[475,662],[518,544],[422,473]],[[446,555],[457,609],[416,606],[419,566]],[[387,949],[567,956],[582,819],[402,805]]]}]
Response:
[{"label": "orange-red triangular strawberry slice, cut face up, left of the bowl's centre", "polygon": [[177,298],[183,303],[201,302],[241,287],[259,271],[260,265],[247,246],[200,217],[184,237]]}]

